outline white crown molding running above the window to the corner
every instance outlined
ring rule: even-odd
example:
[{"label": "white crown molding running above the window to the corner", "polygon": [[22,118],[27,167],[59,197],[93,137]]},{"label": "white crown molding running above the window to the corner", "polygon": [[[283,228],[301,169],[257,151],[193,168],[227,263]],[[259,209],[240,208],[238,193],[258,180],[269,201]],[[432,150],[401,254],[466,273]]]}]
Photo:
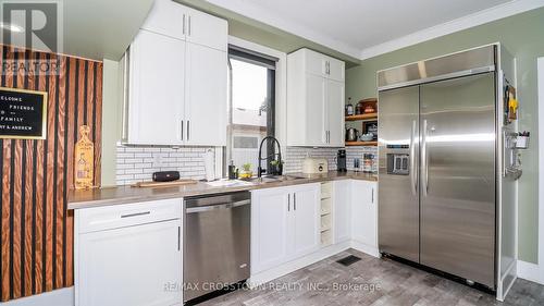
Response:
[{"label": "white crown molding running above the window to the corner", "polygon": [[207,2],[331,48],[354,59],[358,59],[361,53],[361,50],[357,47],[323,35],[299,23],[283,19],[247,0],[207,0]]}]

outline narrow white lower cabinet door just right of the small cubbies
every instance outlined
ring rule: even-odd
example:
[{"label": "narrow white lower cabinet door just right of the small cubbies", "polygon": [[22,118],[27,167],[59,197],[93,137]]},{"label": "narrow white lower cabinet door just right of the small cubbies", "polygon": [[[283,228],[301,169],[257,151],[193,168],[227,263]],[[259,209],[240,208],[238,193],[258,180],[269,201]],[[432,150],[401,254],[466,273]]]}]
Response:
[{"label": "narrow white lower cabinet door just right of the small cubbies", "polygon": [[351,181],[338,181],[333,185],[334,243],[351,237]]}]

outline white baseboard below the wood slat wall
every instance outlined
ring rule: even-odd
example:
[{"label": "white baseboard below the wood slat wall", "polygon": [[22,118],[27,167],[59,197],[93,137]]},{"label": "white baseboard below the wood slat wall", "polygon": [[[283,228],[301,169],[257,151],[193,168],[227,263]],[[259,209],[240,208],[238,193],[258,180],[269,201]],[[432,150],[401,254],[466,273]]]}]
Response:
[{"label": "white baseboard below the wood slat wall", "polygon": [[2,306],[74,306],[74,287],[63,287],[0,304]]}]

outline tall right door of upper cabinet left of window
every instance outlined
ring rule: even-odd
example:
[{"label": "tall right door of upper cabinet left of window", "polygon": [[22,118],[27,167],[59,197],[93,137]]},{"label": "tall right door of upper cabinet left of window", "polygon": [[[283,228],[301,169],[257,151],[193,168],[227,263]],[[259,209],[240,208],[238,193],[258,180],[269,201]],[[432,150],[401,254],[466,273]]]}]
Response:
[{"label": "tall right door of upper cabinet left of window", "polygon": [[226,52],[187,42],[185,144],[226,146]]}]

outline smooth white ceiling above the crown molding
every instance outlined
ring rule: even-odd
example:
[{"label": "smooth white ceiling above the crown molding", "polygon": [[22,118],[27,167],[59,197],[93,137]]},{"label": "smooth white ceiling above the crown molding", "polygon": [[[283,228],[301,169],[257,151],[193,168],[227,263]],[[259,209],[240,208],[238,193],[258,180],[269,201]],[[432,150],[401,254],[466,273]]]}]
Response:
[{"label": "smooth white ceiling above the crown molding", "polygon": [[208,1],[360,59],[412,45],[407,38],[417,44],[544,5],[543,0]]}]

